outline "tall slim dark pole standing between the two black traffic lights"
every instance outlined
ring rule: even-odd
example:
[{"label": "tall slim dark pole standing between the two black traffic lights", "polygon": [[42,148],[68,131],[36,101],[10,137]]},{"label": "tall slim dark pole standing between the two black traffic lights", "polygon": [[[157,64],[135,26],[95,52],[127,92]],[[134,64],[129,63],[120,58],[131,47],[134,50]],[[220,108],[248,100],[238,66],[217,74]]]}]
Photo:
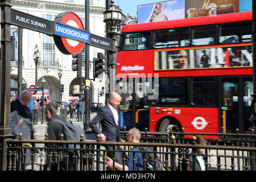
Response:
[{"label": "tall slim dark pole standing between the two black traffic lights", "polygon": [[[89,0],[85,0],[85,31],[89,32]],[[85,44],[85,82],[90,81],[90,60],[89,60],[89,45]],[[85,84],[85,115],[84,115],[84,130],[89,129],[90,123],[90,84]]]}]

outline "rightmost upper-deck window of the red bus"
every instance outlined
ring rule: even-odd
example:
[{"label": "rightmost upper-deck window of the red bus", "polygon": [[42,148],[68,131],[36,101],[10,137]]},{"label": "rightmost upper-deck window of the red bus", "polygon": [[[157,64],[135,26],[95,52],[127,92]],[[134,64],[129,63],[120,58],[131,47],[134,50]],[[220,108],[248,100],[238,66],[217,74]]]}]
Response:
[{"label": "rightmost upper-deck window of the red bus", "polygon": [[251,34],[252,27],[248,21],[223,23],[220,26],[220,43],[250,42]]}]

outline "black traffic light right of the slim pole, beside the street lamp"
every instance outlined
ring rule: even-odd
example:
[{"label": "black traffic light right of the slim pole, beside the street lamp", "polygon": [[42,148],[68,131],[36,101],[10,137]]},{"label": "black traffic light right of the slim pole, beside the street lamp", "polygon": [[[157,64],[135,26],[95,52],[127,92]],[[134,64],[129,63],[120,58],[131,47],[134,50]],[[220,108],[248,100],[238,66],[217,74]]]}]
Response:
[{"label": "black traffic light right of the slim pole, beside the street lamp", "polygon": [[106,56],[101,52],[98,52],[97,57],[93,58],[93,77],[94,78],[97,78],[98,75],[106,71],[106,68],[105,68],[106,61],[104,61],[105,59],[106,59]]}]

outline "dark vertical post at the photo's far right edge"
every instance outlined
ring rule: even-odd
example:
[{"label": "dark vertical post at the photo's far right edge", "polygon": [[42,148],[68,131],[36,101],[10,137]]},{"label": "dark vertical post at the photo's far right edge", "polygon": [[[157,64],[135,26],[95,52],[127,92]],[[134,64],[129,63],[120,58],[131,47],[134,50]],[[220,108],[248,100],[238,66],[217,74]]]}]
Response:
[{"label": "dark vertical post at the photo's far right edge", "polygon": [[256,121],[256,5],[255,0],[253,0],[253,34],[251,35],[251,41],[253,42],[252,48],[253,48],[253,94],[251,95],[252,101],[251,101],[251,117],[250,121],[253,124],[249,128],[249,130],[254,129],[255,130],[255,121]]}]

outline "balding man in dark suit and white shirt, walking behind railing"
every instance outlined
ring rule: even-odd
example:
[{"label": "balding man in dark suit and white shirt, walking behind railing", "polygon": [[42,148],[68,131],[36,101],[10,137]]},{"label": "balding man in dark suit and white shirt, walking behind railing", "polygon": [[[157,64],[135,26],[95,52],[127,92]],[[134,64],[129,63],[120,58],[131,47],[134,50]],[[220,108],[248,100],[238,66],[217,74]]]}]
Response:
[{"label": "balding man in dark suit and white shirt, walking behind railing", "polygon": [[[94,133],[100,134],[103,142],[121,142],[119,133],[119,114],[117,106],[120,105],[122,97],[116,93],[110,93],[109,103],[105,107],[100,107],[98,115],[90,122],[90,128]],[[102,131],[98,129],[97,123],[101,122]],[[113,146],[106,146],[108,150],[113,150]],[[120,150],[115,146],[115,150]],[[113,158],[113,152],[107,152],[108,157]],[[122,152],[115,152],[116,162],[122,164]]]}]

